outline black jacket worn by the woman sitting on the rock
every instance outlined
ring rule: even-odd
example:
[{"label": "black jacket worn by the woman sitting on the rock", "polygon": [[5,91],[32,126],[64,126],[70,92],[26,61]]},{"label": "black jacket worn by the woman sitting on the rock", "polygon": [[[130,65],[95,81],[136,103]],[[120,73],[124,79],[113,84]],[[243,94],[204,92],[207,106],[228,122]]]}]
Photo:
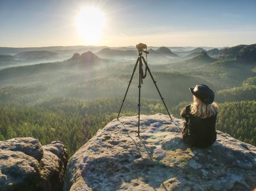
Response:
[{"label": "black jacket worn by the woman sitting on the rock", "polygon": [[215,123],[217,113],[211,117],[200,118],[190,114],[190,105],[187,105],[180,113],[185,118],[183,129],[183,140],[186,144],[195,147],[209,147],[216,138]]}]

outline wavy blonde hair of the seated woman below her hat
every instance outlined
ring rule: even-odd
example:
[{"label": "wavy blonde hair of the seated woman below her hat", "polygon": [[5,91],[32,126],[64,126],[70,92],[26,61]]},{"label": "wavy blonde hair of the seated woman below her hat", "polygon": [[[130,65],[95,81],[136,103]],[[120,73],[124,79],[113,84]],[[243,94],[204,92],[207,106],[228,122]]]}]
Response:
[{"label": "wavy blonde hair of the seated woman below her hat", "polygon": [[190,105],[190,114],[200,118],[211,117],[218,112],[218,104],[213,102],[212,104],[205,104],[200,99],[193,95],[194,102]]}]

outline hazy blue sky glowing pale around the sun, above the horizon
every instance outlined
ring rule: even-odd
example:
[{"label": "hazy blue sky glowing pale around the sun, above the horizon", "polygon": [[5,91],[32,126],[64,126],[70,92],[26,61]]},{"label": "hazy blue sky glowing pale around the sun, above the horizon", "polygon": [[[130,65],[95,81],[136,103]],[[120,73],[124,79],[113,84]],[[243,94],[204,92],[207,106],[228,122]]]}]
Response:
[{"label": "hazy blue sky glowing pale around the sun, above the horizon", "polygon": [[[87,7],[104,15],[96,40],[78,29],[77,17]],[[0,46],[254,44],[255,10],[254,0],[0,0]],[[93,18],[85,18],[83,27]]]}]

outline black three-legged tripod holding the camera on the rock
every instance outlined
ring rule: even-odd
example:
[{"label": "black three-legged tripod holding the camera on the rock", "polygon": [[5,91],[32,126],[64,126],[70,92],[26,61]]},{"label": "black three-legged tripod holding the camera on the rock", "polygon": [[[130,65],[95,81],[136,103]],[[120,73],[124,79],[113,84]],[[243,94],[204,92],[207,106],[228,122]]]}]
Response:
[{"label": "black three-legged tripod holding the camera on the rock", "polygon": [[[158,89],[158,87],[157,87],[157,85],[156,85],[156,81],[155,81],[155,79],[153,78],[153,76],[152,76],[152,74],[151,74],[151,71],[150,71],[150,69],[149,69],[149,66],[147,65],[147,62],[145,61],[145,58],[142,56],[142,53],[143,53],[143,52],[146,53],[146,54],[149,53],[149,52],[147,52],[147,51],[144,51],[143,49],[138,49],[138,55],[139,55],[139,56],[138,56],[138,58],[137,58],[135,67],[134,67],[134,69],[133,69],[132,77],[130,77],[129,85],[128,85],[127,89],[126,89],[126,94],[124,95],[123,102],[122,102],[121,108],[120,108],[119,113],[118,113],[118,116],[117,116],[117,118],[119,118],[120,112],[121,112],[122,107],[123,107],[124,100],[126,99],[126,95],[127,95],[128,89],[129,89],[129,87],[130,87],[130,83],[132,82],[133,75],[134,75],[135,70],[136,70],[136,68],[137,68],[137,65],[138,65],[138,63],[139,63],[139,86],[138,86],[138,88],[139,88],[139,104],[138,104],[139,119],[138,119],[138,136],[140,136],[140,88],[141,88],[141,84],[143,83],[143,79],[145,79],[145,77],[146,77],[147,71],[149,71],[149,74],[150,74],[150,76],[151,76],[151,79],[153,80],[153,83],[155,84],[156,89],[157,89],[157,91],[158,91],[158,93],[159,93],[159,95],[160,95],[160,97],[161,97],[161,99],[162,99],[163,105],[166,107],[166,110],[167,110],[168,115],[169,115],[169,117],[170,117],[170,113],[169,113],[169,111],[168,111],[168,109],[167,109],[167,106],[166,106],[166,104],[164,103],[163,97],[162,97],[162,95],[161,95],[161,93],[160,93],[160,91],[159,91],[159,89]],[[144,62],[145,67],[146,67],[146,68],[145,68],[145,75],[143,74],[143,62]],[[172,120],[172,117],[170,117],[170,120]]]}]

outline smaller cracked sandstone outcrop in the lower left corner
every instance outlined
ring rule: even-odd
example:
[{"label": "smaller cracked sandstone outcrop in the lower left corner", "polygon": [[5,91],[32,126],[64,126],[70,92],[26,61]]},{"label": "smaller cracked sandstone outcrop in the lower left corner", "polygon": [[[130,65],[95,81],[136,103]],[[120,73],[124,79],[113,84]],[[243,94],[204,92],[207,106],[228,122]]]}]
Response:
[{"label": "smaller cracked sandstone outcrop in the lower left corner", "polygon": [[0,190],[62,190],[66,165],[60,141],[45,146],[33,138],[0,141]]}]

